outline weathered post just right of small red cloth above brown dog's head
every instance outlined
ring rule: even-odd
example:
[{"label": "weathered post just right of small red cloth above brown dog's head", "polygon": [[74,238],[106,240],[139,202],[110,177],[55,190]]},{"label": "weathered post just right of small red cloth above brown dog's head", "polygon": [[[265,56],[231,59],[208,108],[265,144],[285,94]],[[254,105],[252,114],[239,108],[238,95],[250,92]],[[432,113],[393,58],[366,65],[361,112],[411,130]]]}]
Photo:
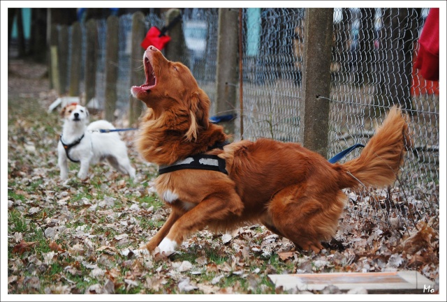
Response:
[{"label": "weathered post just right of small red cloth above brown dog's head", "polygon": [[[171,8],[166,13],[166,25],[180,15],[178,8]],[[186,42],[184,40],[184,34],[182,30],[182,20],[179,20],[169,29],[168,34],[171,40],[166,44],[166,58],[170,61],[181,61],[186,66],[189,66],[189,60],[184,53],[186,52]],[[186,60],[186,61],[185,61]]]}]

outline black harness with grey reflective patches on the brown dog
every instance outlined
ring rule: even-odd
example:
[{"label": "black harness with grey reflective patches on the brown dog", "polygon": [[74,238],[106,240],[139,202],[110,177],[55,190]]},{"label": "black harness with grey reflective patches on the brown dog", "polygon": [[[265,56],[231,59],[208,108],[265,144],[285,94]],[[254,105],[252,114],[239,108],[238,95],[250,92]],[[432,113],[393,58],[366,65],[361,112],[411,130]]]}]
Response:
[{"label": "black harness with grey reflective patches on the brown dog", "polygon": [[[208,150],[216,148],[223,149],[223,146],[226,146],[227,144],[230,144],[230,142],[217,142]],[[173,163],[172,165],[161,165],[159,167],[159,174],[169,173],[181,169],[200,169],[222,172],[223,174],[228,175],[225,165],[225,160],[223,158],[219,158],[219,156],[196,154],[195,156],[189,156],[182,160],[177,160],[177,162]]]}]

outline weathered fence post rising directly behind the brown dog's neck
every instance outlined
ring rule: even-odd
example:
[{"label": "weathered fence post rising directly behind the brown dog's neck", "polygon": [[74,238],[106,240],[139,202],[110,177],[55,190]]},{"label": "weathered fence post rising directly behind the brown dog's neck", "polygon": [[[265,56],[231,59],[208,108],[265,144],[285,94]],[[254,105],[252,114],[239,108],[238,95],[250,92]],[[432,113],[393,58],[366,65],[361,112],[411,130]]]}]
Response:
[{"label": "weathered fence post rising directly behind the brown dog's neck", "polygon": [[[238,83],[238,17],[237,8],[219,8],[216,70],[217,103],[214,114],[235,113],[236,85]],[[225,129],[225,133],[234,133],[234,121],[222,122],[221,125]]]}]

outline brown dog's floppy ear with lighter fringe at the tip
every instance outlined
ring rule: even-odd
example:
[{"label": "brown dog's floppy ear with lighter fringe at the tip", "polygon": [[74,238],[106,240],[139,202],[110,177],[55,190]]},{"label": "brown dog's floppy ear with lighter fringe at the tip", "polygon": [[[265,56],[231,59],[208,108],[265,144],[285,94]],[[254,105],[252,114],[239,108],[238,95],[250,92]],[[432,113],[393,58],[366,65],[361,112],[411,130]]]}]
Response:
[{"label": "brown dog's floppy ear with lighter fringe at the tip", "polygon": [[210,110],[210,98],[207,94],[199,89],[194,91],[189,98],[189,116],[191,118],[191,125],[188,132],[186,132],[186,138],[190,141],[196,140],[198,135],[198,128],[207,129],[210,126],[208,120]]}]

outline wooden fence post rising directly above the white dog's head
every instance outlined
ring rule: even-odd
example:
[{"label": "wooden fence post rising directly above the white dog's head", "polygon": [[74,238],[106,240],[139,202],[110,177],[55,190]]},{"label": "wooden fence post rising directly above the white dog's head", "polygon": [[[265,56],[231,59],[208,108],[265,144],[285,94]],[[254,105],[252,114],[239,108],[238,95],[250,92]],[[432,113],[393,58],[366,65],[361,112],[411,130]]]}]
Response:
[{"label": "wooden fence post rising directly above the white dog's head", "polygon": [[82,33],[79,22],[71,25],[71,65],[70,65],[70,88],[68,96],[79,96],[79,80],[82,60]]}]

